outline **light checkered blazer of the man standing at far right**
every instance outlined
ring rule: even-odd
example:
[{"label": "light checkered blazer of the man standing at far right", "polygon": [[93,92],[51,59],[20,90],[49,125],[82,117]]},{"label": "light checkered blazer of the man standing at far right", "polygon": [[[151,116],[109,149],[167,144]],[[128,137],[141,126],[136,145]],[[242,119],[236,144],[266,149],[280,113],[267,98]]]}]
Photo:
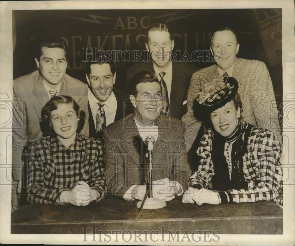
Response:
[{"label": "light checkered blazer of the man standing at far right", "polygon": [[[217,65],[203,68],[191,77],[187,95],[186,114],[182,121],[186,126],[185,141],[187,151],[194,143],[201,123],[194,116],[196,94],[204,89],[205,83],[219,76]],[[278,122],[278,110],[273,93],[273,85],[266,65],[258,60],[236,58],[232,73],[238,84],[245,122],[274,132],[281,140],[281,128]]]}]

